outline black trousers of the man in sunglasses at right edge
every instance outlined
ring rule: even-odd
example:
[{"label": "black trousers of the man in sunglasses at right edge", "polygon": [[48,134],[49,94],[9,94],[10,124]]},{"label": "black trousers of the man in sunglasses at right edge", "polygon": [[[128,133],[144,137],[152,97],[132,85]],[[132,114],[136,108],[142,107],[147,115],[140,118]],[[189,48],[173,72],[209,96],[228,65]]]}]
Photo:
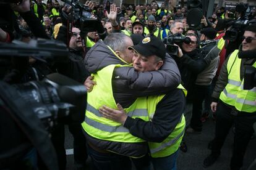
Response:
[{"label": "black trousers of the man in sunglasses at right edge", "polygon": [[219,102],[216,110],[215,138],[213,139],[211,153],[220,154],[229,129],[234,124],[234,146],[230,167],[231,169],[241,168],[245,150],[254,132],[252,125],[255,121],[255,113],[237,112],[223,102]]}]

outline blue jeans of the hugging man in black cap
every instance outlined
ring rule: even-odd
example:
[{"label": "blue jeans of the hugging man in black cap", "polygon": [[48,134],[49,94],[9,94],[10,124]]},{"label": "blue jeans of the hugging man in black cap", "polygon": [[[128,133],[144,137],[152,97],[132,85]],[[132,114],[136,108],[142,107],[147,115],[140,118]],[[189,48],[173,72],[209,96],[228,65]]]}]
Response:
[{"label": "blue jeans of the hugging man in black cap", "polygon": [[179,150],[172,155],[162,158],[151,158],[151,162],[155,170],[176,170],[177,169],[177,155]]}]

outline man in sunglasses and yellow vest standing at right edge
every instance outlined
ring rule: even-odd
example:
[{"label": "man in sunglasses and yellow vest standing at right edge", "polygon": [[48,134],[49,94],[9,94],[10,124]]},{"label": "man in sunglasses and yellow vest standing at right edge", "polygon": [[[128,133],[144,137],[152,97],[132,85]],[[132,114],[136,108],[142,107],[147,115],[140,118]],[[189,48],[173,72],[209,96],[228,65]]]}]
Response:
[{"label": "man in sunglasses and yellow vest standing at right edge", "polygon": [[211,110],[216,112],[215,138],[211,154],[203,161],[208,167],[220,156],[229,129],[235,127],[230,168],[240,169],[256,122],[256,87],[244,90],[245,65],[256,67],[256,25],[245,28],[243,41],[223,63],[212,97]]}]

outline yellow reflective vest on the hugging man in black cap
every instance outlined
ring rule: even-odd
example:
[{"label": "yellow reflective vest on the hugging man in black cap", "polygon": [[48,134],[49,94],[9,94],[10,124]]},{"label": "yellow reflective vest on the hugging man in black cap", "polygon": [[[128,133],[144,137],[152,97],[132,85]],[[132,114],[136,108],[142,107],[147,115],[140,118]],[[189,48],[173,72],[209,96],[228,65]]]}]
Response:
[{"label": "yellow reflective vest on the hugging man in black cap", "polygon": [[[182,89],[185,95],[187,94],[186,89],[181,84],[177,88]],[[163,97],[164,95],[148,97],[148,113],[150,114],[150,119],[153,119],[153,115],[156,110],[156,105],[163,99]],[[186,121],[184,115],[182,114],[181,121],[179,121],[179,123],[174,128],[173,132],[171,132],[171,134],[169,134],[169,136],[166,139],[164,139],[163,142],[148,142],[151,157],[160,158],[169,156],[176,152],[179,148],[179,145],[181,144],[182,137],[186,129],[185,127]]]}]

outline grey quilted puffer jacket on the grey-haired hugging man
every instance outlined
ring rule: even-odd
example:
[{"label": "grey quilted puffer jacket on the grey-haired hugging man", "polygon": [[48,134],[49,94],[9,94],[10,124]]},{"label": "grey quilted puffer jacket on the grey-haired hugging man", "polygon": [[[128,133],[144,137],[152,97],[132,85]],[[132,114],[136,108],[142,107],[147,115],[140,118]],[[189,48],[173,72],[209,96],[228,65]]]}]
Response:
[{"label": "grey quilted puffer jacket on the grey-haired hugging man", "polygon": [[[90,73],[111,65],[127,63],[119,58],[103,41],[98,41],[87,52],[85,67]],[[181,76],[174,60],[166,54],[158,71],[138,72],[133,67],[119,67],[113,72],[113,96],[116,103],[129,107],[137,97],[166,94],[181,83]]]}]

